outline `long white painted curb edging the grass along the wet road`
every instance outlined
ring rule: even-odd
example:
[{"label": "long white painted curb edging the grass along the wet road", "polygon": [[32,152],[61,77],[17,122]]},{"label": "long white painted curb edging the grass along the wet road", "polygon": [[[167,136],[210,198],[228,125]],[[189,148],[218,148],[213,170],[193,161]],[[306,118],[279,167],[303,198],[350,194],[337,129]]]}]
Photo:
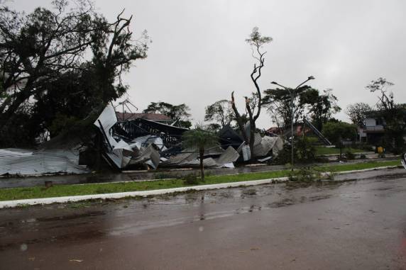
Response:
[{"label": "long white painted curb edging the grass along the wet road", "polygon": [[[393,169],[393,168],[397,168],[397,166],[360,169],[360,170],[354,170],[354,171],[339,171],[339,172],[337,172],[337,174],[351,174],[354,172],[374,171],[374,170]],[[331,173],[327,172],[325,174],[331,174]],[[174,189],[158,189],[158,190],[153,190],[153,191],[130,191],[130,192],[104,193],[104,194],[92,194],[92,195],[82,195],[82,196],[31,198],[31,199],[26,199],[26,200],[0,201],[0,208],[12,208],[12,207],[16,207],[16,206],[26,206],[26,205],[33,206],[35,204],[70,203],[70,202],[75,202],[75,201],[86,201],[86,200],[91,200],[91,199],[125,198],[125,197],[136,197],[136,196],[146,197],[146,196],[163,195],[163,194],[185,192],[185,191],[227,189],[227,188],[233,188],[233,187],[237,187],[237,186],[257,186],[257,185],[287,181],[287,179],[288,179],[288,177],[279,177],[279,178],[272,178],[272,179],[241,181],[241,182],[224,183],[224,184],[187,186],[187,187],[174,188]]]}]

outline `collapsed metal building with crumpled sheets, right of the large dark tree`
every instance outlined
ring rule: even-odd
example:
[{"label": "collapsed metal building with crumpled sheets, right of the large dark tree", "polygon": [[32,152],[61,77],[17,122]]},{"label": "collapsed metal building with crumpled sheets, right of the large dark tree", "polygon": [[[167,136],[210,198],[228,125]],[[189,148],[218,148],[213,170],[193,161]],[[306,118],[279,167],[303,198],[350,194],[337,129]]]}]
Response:
[{"label": "collapsed metal building with crumpled sheets, right of the large dark tree", "polygon": [[[112,106],[106,106],[94,122],[104,137],[104,154],[112,167],[125,169],[131,165],[145,164],[148,168],[195,167],[199,165],[196,150],[182,150],[182,134],[187,128],[160,123],[155,120],[135,118],[118,120]],[[257,157],[270,159],[282,149],[280,137],[261,137],[256,134],[254,152]],[[245,161],[249,157],[249,146],[231,127],[226,126],[219,132],[219,146],[204,150],[205,167],[234,167],[238,159]]]}]

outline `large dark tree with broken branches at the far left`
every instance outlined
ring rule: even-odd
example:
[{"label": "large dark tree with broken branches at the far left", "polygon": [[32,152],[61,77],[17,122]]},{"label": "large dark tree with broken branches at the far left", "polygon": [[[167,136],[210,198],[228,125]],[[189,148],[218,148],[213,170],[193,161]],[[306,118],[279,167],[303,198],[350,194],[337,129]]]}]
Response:
[{"label": "large dark tree with broken branches at the far left", "polygon": [[98,111],[124,94],[121,74],[146,57],[148,35],[133,41],[132,17],[109,23],[87,1],[71,4],[29,14],[0,7],[0,144],[20,143],[16,133],[33,141],[62,115]]}]

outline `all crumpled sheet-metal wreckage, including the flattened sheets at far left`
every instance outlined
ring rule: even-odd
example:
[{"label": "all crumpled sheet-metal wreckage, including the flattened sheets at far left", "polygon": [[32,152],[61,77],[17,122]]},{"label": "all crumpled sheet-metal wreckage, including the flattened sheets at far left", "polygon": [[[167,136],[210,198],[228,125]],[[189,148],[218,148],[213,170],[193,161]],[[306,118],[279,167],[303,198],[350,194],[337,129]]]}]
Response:
[{"label": "all crumpled sheet-metal wreckage, including the flattened sheets at far left", "polygon": [[[103,141],[101,156],[114,169],[199,166],[198,152],[182,149],[182,134],[187,128],[143,118],[118,120],[111,105],[104,108],[94,125]],[[259,162],[275,157],[282,147],[280,137],[261,137],[256,133],[254,153]],[[89,167],[80,160],[86,150],[78,139],[61,143],[57,137],[40,145],[38,150],[0,150],[0,175],[89,173]],[[219,132],[219,146],[204,150],[203,164],[234,168],[234,162],[250,159],[250,148],[243,137],[226,126]]]}]

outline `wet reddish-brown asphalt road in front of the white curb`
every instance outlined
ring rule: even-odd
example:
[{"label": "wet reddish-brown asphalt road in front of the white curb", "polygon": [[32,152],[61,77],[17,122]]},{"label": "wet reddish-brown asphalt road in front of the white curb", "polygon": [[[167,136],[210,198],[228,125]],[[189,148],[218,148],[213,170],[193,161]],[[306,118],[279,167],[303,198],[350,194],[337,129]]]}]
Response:
[{"label": "wet reddish-brown asphalt road in front of the white curb", "polygon": [[345,177],[0,210],[0,269],[406,269],[406,171]]}]

